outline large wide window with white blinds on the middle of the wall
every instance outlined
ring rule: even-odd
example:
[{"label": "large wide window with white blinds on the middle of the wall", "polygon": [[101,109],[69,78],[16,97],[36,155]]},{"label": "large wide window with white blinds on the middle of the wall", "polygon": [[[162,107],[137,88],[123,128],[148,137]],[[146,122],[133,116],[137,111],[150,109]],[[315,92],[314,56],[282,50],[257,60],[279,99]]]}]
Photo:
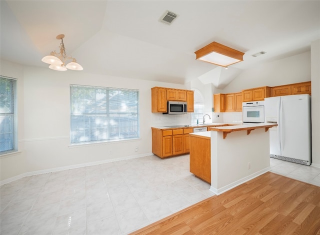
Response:
[{"label": "large wide window with white blinds on the middle of the wall", "polygon": [[71,144],[139,137],[139,91],[70,85]]}]

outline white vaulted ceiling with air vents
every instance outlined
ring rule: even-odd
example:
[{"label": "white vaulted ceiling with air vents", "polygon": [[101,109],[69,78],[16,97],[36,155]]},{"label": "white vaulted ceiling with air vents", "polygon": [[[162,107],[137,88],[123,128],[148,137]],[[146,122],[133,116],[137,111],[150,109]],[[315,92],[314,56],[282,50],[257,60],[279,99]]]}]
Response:
[{"label": "white vaulted ceiling with air vents", "polygon": [[[243,69],[310,49],[320,38],[319,0],[1,0],[1,59],[46,67],[65,34],[67,55],[86,72],[224,87]],[[178,17],[159,21],[170,10]],[[222,71],[195,60],[217,41],[244,52]],[[259,51],[265,54],[253,57]],[[58,72],[58,71],[57,71]],[[79,71],[74,71],[79,72]]]}]

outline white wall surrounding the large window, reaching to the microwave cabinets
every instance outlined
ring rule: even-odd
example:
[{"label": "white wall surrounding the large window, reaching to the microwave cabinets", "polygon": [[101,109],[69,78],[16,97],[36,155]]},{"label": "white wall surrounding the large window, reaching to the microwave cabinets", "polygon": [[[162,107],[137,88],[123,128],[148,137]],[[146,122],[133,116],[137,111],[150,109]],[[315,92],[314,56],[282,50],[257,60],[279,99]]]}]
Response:
[{"label": "white wall surrounding the large window, reaching to the microwave cabinets", "polygon": [[[20,66],[1,60],[1,75],[18,79],[18,150],[1,156],[1,181],[28,172],[46,172],[100,161],[151,153],[151,126],[178,122],[176,115],[151,113],[151,87],[185,88],[185,85],[154,82],[84,71],[54,71]],[[70,84],[139,90],[140,139],[69,146]],[[189,120],[190,114],[184,118]],[[184,121],[184,120],[182,120]],[[134,147],[138,146],[138,151]]]}]

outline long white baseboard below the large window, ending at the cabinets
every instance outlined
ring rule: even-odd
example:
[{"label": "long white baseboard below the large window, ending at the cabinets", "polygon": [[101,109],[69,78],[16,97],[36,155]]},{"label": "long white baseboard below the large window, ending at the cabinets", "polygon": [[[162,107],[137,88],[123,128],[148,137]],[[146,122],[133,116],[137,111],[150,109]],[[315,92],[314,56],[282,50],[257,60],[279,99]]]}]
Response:
[{"label": "long white baseboard below the large window, ending at the cabinets", "polygon": [[128,159],[149,156],[149,155],[153,155],[153,153],[149,152],[149,153],[137,154],[137,155],[132,155],[132,156],[124,156],[124,157],[112,158],[112,159],[107,159],[107,160],[92,161],[92,162],[86,162],[86,163],[76,164],[76,165],[66,165],[66,166],[61,166],[61,167],[56,167],[56,168],[25,172],[25,173],[1,180],[0,185],[15,181],[17,179],[20,179],[20,178],[23,178],[26,176],[32,176],[32,175],[37,175],[37,174],[46,174],[46,173],[51,173],[51,172],[56,172],[56,171],[61,171],[61,170],[75,169],[75,168],[91,166],[91,165],[98,165],[98,164],[109,163],[109,162],[120,161],[120,160],[128,160]]}]

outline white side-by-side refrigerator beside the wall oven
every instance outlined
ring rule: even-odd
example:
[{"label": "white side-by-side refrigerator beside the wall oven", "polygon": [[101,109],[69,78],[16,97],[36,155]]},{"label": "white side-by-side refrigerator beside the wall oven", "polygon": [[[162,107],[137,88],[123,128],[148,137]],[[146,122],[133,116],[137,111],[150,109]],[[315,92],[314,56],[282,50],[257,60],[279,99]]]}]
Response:
[{"label": "white side-by-side refrigerator beside the wall oven", "polygon": [[264,120],[269,129],[270,157],[311,164],[311,98],[308,94],[264,99]]}]

